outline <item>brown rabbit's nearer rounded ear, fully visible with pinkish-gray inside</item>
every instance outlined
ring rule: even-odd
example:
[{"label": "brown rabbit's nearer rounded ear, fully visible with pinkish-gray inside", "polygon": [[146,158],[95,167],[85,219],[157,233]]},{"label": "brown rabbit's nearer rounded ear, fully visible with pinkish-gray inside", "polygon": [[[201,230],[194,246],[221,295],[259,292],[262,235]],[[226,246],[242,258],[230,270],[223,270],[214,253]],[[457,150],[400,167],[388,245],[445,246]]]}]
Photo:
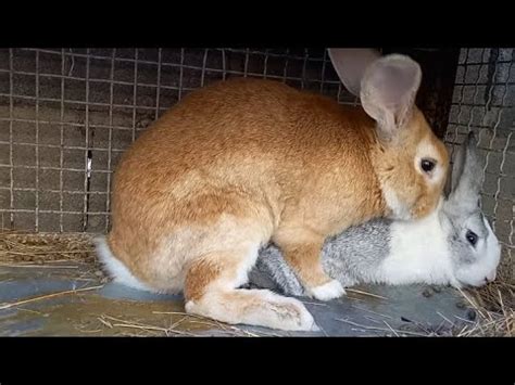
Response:
[{"label": "brown rabbit's nearer rounded ear, fully visible with pinkish-gray inside", "polygon": [[394,136],[410,118],[420,81],[420,66],[405,55],[390,54],[366,68],[361,102],[387,138]]}]

